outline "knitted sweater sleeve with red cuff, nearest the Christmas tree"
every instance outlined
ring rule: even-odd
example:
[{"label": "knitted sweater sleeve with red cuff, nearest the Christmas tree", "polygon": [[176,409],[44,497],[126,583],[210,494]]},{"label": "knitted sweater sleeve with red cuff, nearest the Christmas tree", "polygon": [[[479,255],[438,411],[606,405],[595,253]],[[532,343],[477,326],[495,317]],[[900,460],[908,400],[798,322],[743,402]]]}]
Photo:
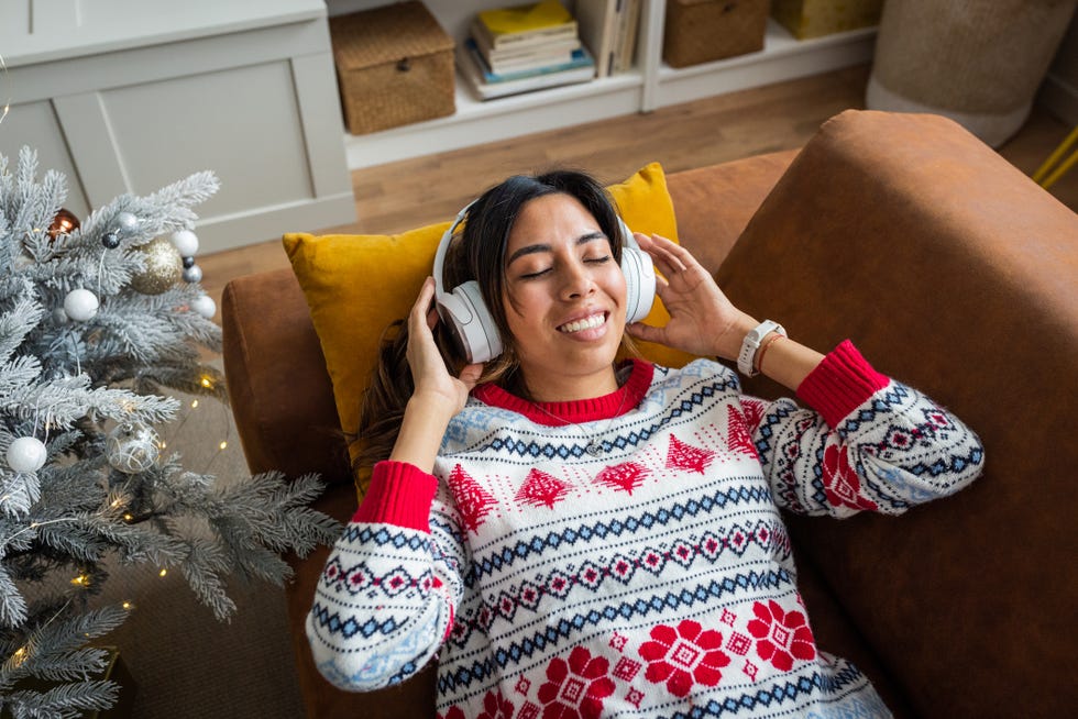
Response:
[{"label": "knitted sweater sleeve with red cuff, nearest the Christmas tree", "polygon": [[437,654],[462,595],[464,555],[453,513],[440,504],[433,476],[403,463],[375,466],[307,617],[311,654],[331,684],[378,689]]}]

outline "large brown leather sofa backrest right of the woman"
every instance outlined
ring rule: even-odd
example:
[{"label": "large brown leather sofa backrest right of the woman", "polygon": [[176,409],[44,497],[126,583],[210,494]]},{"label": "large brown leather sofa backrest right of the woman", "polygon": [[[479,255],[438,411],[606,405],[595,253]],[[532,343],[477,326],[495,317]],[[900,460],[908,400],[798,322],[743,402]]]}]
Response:
[{"label": "large brown leather sofa backrest right of the woman", "polygon": [[986,473],[953,498],[791,522],[920,716],[1072,711],[1076,269],[1078,217],[959,125],[849,111],[717,274],[746,312],[821,351],[850,336],[981,436]]}]

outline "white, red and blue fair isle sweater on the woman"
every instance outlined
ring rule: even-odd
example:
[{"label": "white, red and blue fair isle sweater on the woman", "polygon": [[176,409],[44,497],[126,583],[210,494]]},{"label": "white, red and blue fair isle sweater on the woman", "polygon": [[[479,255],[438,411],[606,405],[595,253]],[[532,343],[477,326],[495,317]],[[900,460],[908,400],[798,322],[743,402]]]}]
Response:
[{"label": "white, red and blue fair isle sweater on the woman", "polygon": [[890,716],[816,646],[780,509],[898,515],[982,451],[848,342],[798,396],[705,360],[546,412],[477,387],[433,476],[375,467],[308,617],[319,670],[362,692],[437,659],[443,719]]}]

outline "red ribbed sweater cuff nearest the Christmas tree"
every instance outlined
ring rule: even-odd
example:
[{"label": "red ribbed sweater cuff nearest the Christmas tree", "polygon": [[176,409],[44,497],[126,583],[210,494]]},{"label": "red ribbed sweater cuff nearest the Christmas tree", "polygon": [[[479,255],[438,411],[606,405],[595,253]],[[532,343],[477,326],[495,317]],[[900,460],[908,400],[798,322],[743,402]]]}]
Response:
[{"label": "red ribbed sweater cuff nearest the Christmas tree", "polygon": [[430,533],[430,504],[438,480],[405,462],[374,465],[371,485],[353,522],[393,524]]}]

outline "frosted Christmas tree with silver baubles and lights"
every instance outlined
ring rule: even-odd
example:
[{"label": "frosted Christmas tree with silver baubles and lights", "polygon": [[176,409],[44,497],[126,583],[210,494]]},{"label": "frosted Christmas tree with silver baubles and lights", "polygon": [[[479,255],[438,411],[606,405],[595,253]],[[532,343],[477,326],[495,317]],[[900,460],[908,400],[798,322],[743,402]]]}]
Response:
[{"label": "frosted Christmas tree with silver baubles and lights", "polygon": [[117,697],[92,643],[130,609],[95,602],[107,566],[179,569],[227,619],[230,576],[280,584],[280,553],[337,527],[307,507],[315,477],[224,483],[161,450],[155,428],[179,410],[167,389],[226,401],[191,232],[215,176],[79,224],[66,178],[36,165],[28,148],[16,167],[0,157],[0,711],[68,717]]}]

